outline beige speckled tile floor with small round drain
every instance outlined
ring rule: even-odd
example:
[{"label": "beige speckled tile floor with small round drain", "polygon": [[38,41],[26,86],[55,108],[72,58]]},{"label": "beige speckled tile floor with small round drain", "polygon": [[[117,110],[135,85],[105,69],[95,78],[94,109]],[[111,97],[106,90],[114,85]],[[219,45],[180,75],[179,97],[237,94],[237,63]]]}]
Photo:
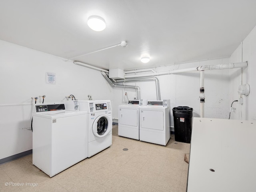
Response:
[{"label": "beige speckled tile floor with small round drain", "polygon": [[[120,137],[117,131],[114,125],[111,147],[52,178],[32,165],[32,155],[0,165],[0,192],[186,192],[184,154],[190,144],[172,135],[160,146]],[[13,186],[18,184],[28,186]]]}]

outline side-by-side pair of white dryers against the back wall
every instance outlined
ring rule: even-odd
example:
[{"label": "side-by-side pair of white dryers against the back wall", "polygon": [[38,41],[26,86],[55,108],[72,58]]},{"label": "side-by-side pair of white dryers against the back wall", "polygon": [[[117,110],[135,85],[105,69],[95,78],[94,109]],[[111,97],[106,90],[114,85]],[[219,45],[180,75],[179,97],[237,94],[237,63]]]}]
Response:
[{"label": "side-by-side pair of white dryers against the back wall", "polygon": [[170,100],[133,100],[118,108],[119,136],[167,144],[170,139]]}]

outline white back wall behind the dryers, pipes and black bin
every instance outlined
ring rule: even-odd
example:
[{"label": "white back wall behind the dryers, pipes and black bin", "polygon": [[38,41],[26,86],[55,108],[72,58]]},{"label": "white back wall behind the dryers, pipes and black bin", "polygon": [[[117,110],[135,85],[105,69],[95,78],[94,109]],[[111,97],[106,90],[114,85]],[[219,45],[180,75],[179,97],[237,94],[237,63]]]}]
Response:
[{"label": "white back wall behind the dryers, pipes and black bin", "polygon": [[[156,67],[157,72],[198,67],[202,65],[227,64],[229,58],[207,60],[201,62],[190,62],[186,64],[175,64],[171,66]],[[230,70],[206,70],[205,71],[205,117],[208,118],[228,118],[230,105],[229,94],[229,71]],[[200,73],[186,72],[157,76],[160,82],[161,99],[171,100],[171,109],[176,106],[189,106],[194,109],[194,116],[200,114]],[[129,85],[137,85],[141,89],[141,99],[156,100],[155,82],[134,82]],[[129,100],[136,97],[135,90],[125,89]],[[123,89],[114,88],[113,117],[118,118],[118,105],[126,104],[122,102]],[[171,111],[172,113],[172,111]],[[116,121],[117,122],[117,121]],[[173,116],[171,117],[173,126]],[[172,129],[172,131],[174,131]]]}]

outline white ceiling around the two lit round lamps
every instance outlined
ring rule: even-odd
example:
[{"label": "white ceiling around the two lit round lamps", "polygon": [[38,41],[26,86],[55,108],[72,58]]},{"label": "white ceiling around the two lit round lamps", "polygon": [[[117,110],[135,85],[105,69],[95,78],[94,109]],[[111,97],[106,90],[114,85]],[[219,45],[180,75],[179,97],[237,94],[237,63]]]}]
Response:
[{"label": "white ceiling around the two lit round lamps", "polygon": [[[256,0],[2,0],[0,39],[103,69],[163,66],[230,56],[256,26],[255,8]],[[91,15],[106,29],[91,30]],[[128,46],[74,58],[121,41]]]}]

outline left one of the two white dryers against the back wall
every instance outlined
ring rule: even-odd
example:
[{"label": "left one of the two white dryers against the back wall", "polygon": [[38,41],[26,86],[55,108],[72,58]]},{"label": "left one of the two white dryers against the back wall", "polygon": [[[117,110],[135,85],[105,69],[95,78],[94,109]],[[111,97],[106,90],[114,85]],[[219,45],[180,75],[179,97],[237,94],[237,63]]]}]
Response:
[{"label": "left one of the two white dryers against the back wall", "polygon": [[118,135],[140,139],[140,107],[147,105],[146,99],[131,100],[126,105],[118,106]]}]

